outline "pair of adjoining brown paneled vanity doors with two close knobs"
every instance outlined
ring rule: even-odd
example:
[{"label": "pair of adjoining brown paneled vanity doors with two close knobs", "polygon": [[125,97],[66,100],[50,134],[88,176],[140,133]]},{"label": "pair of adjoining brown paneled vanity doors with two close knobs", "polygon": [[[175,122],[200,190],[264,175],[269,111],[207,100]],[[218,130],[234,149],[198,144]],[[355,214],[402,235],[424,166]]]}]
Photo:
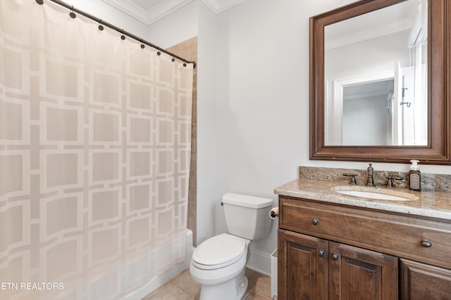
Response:
[{"label": "pair of adjoining brown paneled vanity doors with two close knobs", "polygon": [[397,299],[395,256],[286,230],[278,247],[278,299]]}]

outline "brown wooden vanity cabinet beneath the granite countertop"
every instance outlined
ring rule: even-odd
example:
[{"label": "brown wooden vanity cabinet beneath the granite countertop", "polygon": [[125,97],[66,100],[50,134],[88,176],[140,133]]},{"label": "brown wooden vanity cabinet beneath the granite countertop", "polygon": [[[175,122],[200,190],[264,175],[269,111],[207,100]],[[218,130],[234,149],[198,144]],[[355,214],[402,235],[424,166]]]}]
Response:
[{"label": "brown wooden vanity cabinet beneath the granite countertop", "polygon": [[451,224],[279,196],[278,299],[451,299]]}]

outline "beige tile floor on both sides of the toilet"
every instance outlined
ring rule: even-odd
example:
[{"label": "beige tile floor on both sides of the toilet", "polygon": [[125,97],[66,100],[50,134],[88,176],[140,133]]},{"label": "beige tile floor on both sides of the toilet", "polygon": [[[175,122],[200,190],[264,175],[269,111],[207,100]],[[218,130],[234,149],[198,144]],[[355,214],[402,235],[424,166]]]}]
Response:
[{"label": "beige tile floor on both sides of the toilet", "polygon": [[[246,276],[249,285],[243,300],[271,300],[271,278],[248,268]],[[185,270],[142,300],[197,300],[199,296],[200,285],[192,280],[190,270]]]}]

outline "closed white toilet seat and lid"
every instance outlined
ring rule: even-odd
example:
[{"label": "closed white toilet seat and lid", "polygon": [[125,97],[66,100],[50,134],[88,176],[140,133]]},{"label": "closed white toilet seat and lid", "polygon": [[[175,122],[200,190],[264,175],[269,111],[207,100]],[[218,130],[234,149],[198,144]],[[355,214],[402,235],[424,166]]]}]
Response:
[{"label": "closed white toilet seat and lid", "polygon": [[223,233],[199,244],[192,254],[192,264],[203,270],[224,268],[239,261],[245,254],[245,239]]}]

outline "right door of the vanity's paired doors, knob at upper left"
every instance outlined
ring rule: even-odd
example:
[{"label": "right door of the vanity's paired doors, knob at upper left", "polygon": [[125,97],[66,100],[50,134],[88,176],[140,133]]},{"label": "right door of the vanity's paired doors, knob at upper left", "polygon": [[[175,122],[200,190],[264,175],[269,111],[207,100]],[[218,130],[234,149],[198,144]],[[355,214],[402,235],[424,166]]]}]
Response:
[{"label": "right door of the vanity's paired doors, knob at upper left", "polygon": [[397,257],[329,242],[330,300],[395,300]]}]

